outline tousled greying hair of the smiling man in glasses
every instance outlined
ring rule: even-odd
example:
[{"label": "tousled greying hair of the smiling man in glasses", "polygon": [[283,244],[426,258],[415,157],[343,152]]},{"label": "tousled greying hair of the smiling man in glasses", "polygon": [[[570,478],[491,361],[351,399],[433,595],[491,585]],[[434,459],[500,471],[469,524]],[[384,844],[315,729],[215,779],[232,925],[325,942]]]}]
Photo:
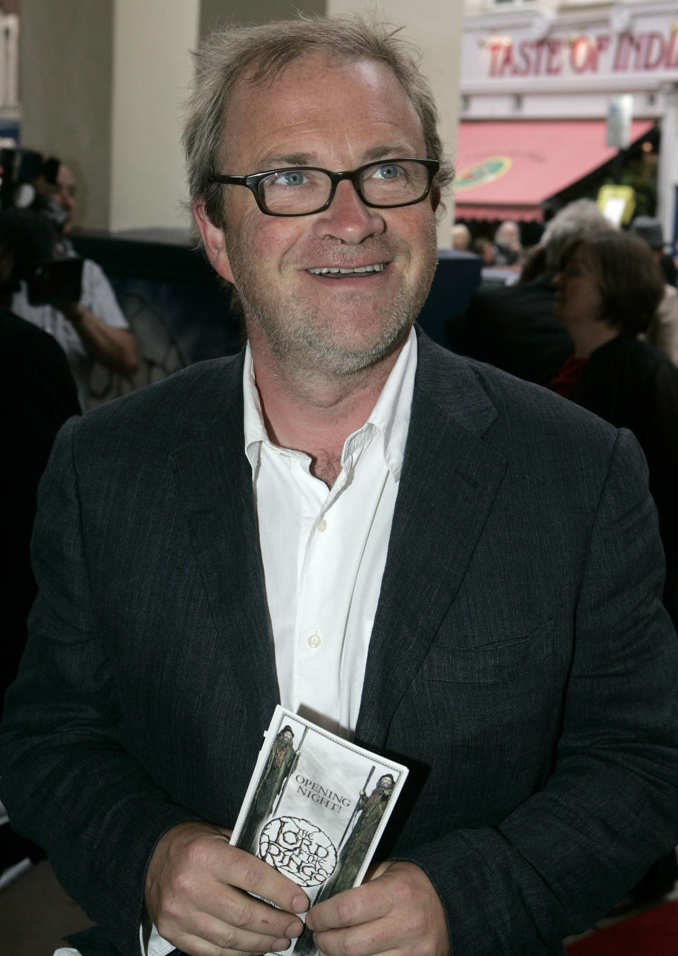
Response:
[{"label": "tousled greying hair of the smiling man in glasses", "polygon": [[223,190],[211,182],[221,168],[227,138],[226,109],[233,89],[250,71],[252,83],[273,79],[289,63],[316,51],[356,61],[376,60],[392,70],[421,120],[426,158],[438,160],[434,185],[443,188],[454,172],[443,156],[434,96],[418,67],[413,44],[387,24],[361,15],[308,17],[217,30],[196,54],[197,71],[187,101],[183,148],[191,200],[201,197],[210,221],[223,227]]}]

